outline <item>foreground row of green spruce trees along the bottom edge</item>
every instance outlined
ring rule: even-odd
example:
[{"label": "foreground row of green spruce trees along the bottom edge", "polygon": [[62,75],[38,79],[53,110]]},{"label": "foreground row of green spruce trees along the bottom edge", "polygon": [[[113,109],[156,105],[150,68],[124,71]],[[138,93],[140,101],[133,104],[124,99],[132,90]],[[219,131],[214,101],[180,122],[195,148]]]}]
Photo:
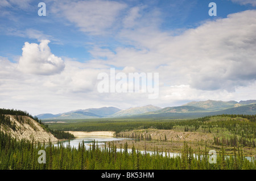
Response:
[{"label": "foreground row of green spruce trees along the bottom edge", "polygon": [[[38,162],[38,151],[46,151],[46,163]],[[255,159],[251,161],[243,157],[241,149],[234,148],[233,156],[226,157],[225,150],[216,155],[216,163],[210,163],[208,151],[194,151],[184,143],[180,157],[163,156],[163,150],[156,149],[154,154],[143,154],[133,146],[129,152],[127,143],[121,145],[121,151],[117,151],[114,143],[105,144],[100,148],[96,142],[85,149],[84,142],[78,148],[70,145],[54,146],[51,142],[46,144],[28,141],[17,141],[15,138],[0,132],[0,169],[24,169],[24,170],[80,170],[80,169],[143,169],[143,170],[218,170],[218,169],[254,169]]]}]

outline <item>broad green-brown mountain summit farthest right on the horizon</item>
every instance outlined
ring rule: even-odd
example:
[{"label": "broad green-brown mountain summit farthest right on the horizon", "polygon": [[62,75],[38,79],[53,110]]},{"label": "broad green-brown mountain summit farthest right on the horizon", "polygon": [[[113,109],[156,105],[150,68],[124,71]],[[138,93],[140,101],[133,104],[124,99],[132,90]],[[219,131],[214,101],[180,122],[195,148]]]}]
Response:
[{"label": "broad green-brown mountain summit farthest right on the horizon", "polygon": [[230,100],[228,102],[224,102],[221,100],[206,100],[206,101],[199,101],[199,102],[190,102],[185,104],[184,106],[194,106],[204,108],[210,111],[217,111],[217,110],[224,110],[227,108],[238,107],[241,106],[240,103]]}]

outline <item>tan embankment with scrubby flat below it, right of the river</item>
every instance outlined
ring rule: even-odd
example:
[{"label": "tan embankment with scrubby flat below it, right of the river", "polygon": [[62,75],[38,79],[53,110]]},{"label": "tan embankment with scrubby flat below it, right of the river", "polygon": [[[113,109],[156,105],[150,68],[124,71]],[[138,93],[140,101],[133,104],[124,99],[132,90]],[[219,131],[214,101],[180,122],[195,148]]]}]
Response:
[{"label": "tan embankment with scrubby flat below it, right of the river", "polygon": [[[184,146],[184,141],[188,143],[193,149],[204,149],[206,142],[210,145],[213,141],[213,136],[210,133],[199,132],[179,132],[173,130],[160,130],[160,129],[141,129],[129,132],[120,132],[118,137],[139,138],[142,141],[135,140],[122,140],[115,141],[117,147],[127,143],[128,148],[135,148],[139,150],[154,151],[169,151],[180,153]],[[141,138],[143,137],[143,138]],[[145,139],[146,138],[146,139]]]}]

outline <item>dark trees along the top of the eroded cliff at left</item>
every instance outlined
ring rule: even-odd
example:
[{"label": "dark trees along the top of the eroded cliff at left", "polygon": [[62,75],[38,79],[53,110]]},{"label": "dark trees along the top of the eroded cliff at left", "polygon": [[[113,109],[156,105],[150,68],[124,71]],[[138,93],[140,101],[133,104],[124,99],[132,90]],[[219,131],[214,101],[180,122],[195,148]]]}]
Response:
[{"label": "dark trees along the top of the eroded cliff at left", "polygon": [[9,116],[6,115],[14,115],[15,119],[20,123],[23,124],[24,120],[22,116],[28,116],[31,119],[34,119],[36,122],[38,122],[41,127],[47,131],[51,132],[56,138],[58,139],[72,139],[75,138],[75,136],[71,133],[63,132],[63,131],[56,131],[52,130],[48,127],[47,124],[44,124],[42,120],[38,119],[36,116],[30,115],[26,111],[20,111],[20,110],[14,110],[14,109],[0,109],[0,125],[7,125],[9,128],[13,129],[13,131],[16,131],[19,128],[16,128],[15,122],[12,123]]}]

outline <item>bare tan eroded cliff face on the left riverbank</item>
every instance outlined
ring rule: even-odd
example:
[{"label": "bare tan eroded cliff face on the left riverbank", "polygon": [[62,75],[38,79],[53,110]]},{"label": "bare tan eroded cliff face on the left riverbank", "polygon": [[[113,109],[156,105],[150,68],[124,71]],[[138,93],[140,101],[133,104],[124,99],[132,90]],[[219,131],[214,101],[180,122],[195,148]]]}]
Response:
[{"label": "bare tan eroded cliff face on the left riverbank", "polygon": [[58,140],[52,133],[45,131],[43,127],[34,119],[31,119],[31,117],[18,116],[17,120],[17,117],[14,115],[5,116],[10,117],[11,124],[15,125],[15,129],[7,125],[0,125],[0,130],[9,133],[17,140],[22,140],[23,138],[30,141],[34,139],[34,142],[48,142],[49,140],[53,142]]}]

